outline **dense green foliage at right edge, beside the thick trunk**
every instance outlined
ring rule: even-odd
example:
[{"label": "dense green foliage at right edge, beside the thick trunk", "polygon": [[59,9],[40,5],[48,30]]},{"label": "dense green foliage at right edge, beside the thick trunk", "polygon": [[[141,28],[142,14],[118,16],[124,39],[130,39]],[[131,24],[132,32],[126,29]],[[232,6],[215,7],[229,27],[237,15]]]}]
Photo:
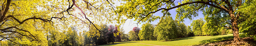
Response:
[{"label": "dense green foliage at right edge, beside the thick trunk", "polygon": [[256,16],[255,16],[255,0],[245,0],[244,3],[239,7],[237,12],[242,12],[239,18],[242,21],[238,26],[239,31],[244,32],[246,36],[253,37],[256,40]]}]

